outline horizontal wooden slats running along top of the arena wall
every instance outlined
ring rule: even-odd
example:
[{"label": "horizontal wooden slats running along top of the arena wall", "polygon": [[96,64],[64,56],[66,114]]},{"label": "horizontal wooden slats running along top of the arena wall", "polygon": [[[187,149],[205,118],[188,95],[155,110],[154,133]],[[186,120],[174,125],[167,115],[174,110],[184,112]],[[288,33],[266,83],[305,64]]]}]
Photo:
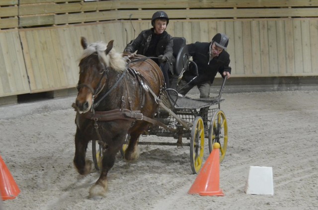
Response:
[{"label": "horizontal wooden slats running along top of the arena wall", "polygon": [[[20,27],[41,27],[110,20],[149,19],[165,10],[172,19],[317,17],[318,1],[312,0],[5,0],[15,8]],[[15,15],[14,15],[15,16]],[[1,26],[1,25],[0,25]],[[2,26],[1,26],[2,27]]]}]

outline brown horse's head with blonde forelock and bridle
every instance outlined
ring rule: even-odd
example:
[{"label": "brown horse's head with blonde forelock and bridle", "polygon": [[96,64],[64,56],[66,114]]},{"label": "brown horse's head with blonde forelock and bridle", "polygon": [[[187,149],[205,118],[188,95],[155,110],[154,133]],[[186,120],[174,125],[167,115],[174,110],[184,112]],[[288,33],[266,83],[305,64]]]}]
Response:
[{"label": "brown horse's head with blonde forelock and bridle", "polygon": [[92,107],[94,99],[105,87],[107,71],[123,71],[126,67],[122,53],[114,52],[113,42],[110,41],[107,46],[103,42],[88,45],[86,39],[81,37],[84,51],[79,62],[79,93],[75,103],[79,113],[85,113]]}]

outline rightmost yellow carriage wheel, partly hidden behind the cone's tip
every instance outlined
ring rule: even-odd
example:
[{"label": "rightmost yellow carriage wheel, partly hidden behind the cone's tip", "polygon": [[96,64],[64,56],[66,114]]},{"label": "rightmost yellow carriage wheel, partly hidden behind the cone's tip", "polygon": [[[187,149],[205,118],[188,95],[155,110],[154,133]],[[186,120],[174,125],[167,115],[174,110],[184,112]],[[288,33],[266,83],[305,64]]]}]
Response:
[{"label": "rightmost yellow carriage wheel, partly hidden behind the cone's tip", "polygon": [[211,119],[209,128],[209,151],[213,150],[213,144],[217,142],[221,145],[220,162],[225,157],[228,147],[228,123],[222,110],[217,110]]}]

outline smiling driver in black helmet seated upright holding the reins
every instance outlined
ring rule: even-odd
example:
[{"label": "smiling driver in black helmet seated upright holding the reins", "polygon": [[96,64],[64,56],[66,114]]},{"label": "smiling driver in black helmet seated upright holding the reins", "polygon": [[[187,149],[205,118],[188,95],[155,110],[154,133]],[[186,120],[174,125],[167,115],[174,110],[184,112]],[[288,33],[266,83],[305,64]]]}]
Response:
[{"label": "smiling driver in black helmet seated upright holding the reins", "polygon": [[169,88],[169,72],[173,72],[173,38],[165,31],[169,17],[164,11],[153,14],[153,28],[142,31],[125,48],[126,52],[135,52],[152,58],[161,68],[166,88]]}]

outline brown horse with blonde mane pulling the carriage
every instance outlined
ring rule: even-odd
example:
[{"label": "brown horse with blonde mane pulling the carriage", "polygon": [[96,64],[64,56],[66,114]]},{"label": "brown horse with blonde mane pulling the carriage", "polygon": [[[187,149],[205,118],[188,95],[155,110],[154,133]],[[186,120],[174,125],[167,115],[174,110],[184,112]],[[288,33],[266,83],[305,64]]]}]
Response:
[{"label": "brown horse with blonde mane pulling the carriage", "polygon": [[144,119],[153,118],[158,107],[151,92],[159,96],[164,83],[153,60],[115,52],[113,40],[107,46],[102,42],[88,45],[82,37],[81,46],[79,93],[73,106],[77,110],[74,164],[80,174],[90,173],[93,163],[85,159],[87,144],[102,142],[100,177],[89,190],[89,198],[96,199],[106,196],[107,173],[127,134],[125,159],[139,156],[137,140],[149,125]]}]

